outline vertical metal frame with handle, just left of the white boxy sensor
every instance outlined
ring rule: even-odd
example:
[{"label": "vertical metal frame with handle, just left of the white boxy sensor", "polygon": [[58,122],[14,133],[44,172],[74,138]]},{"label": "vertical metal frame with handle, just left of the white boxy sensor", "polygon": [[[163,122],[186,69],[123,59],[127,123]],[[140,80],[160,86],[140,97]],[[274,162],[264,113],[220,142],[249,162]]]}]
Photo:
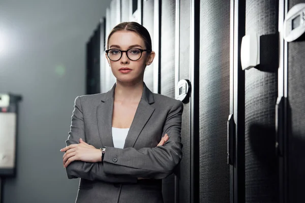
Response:
[{"label": "vertical metal frame with handle, just left of the white boxy sensor", "polygon": [[[235,130],[231,146],[230,202],[245,202],[245,72],[241,69],[240,46],[245,36],[246,2],[231,0],[230,27],[230,114]],[[228,129],[228,131],[231,131]]]}]

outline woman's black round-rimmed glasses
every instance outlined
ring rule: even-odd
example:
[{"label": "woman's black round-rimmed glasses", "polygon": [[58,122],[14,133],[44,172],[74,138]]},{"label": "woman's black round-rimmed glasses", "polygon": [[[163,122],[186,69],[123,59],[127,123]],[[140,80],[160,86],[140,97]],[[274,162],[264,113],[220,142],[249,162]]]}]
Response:
[{"label": "woman's black round-rimmed glasses", "polygon": [[142,56],[143,51],[148,51],[147,49],[138,49],[138,48],[132,48],[127,49],[126,51],[122,51],[119,49],[109,49],[105,52],[107,53],[107,56],[112,61],[117,61],[122,57],[122,53],[126,52],[127,57],[130,60],[139,60]]}]

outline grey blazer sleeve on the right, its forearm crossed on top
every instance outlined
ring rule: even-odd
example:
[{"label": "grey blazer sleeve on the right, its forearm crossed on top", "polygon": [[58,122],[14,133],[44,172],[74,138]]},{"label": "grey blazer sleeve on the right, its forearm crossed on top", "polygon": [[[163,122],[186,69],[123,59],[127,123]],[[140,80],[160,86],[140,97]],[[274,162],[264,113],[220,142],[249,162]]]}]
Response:
[{"label": "grey blazer sleeve on the right, its forearm crossed on top", "polygon": [[181,143],[181,115],[183,104],[177,100],[169,111],[163,135],[168,134],[169,139],[163,146],[154,148],[118,149],[107,147],[104,155],[104,172],[112,175],[130,175],[163,179],[173,173],[174,167],[182,158]]}]

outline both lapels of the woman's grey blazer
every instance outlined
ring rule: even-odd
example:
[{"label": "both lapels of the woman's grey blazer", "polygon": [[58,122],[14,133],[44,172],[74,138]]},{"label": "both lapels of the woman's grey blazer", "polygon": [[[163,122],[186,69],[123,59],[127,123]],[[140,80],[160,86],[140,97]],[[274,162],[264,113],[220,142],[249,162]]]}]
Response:
[{"label": "both lapels of the woman's grey blazer", "polygon": [[[139,102],[136,114],[130,126],[125,140],[124,148],[133,147],[138,139],[142,129],[149,120],[151,114],[155,111],[150,104],[155,102],[154,94],[143,84],[143,93]],[[116,84],[111,90],[106,92],[102,97],[102,103],[97,108],[97,121],[99,135],[103,146],[114,147],[112,140],[112,114],[114,102],[114,90]]]}]

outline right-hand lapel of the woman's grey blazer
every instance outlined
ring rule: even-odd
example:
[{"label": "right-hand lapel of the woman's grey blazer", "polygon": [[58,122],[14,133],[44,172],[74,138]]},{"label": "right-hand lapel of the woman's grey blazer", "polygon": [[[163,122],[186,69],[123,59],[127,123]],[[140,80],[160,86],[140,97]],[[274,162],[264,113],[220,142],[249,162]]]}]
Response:
[{"label": "right-hand lapel of the woman's grey blazer", "polygon": [[155,111],[155,108],[150,106],[150,104],[153,104],[154,102],[155,100],[153,93],[146,87],[144,83],[142,97],[136,110],[135,117],[128,131],[124,148],[134,146],[142,129],[149,120],[151,114],[153,114]]}]

